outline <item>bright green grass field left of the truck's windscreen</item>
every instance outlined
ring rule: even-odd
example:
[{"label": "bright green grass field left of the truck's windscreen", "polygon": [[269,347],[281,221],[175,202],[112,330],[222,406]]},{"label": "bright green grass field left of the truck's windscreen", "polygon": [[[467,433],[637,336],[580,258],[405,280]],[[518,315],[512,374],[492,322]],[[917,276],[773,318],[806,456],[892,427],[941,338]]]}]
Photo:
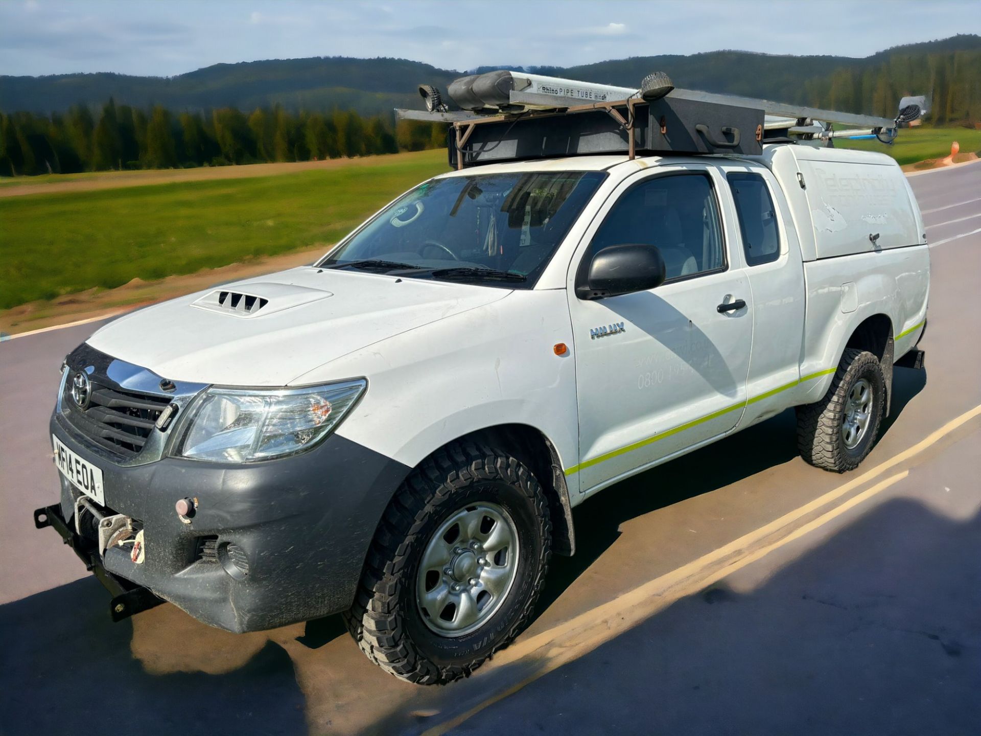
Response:
[{"label": "bright green grass field left of the truck's windscreen", "polygon": [[446,152],[296,174],[0,198],[0,309],[336,242]]}]

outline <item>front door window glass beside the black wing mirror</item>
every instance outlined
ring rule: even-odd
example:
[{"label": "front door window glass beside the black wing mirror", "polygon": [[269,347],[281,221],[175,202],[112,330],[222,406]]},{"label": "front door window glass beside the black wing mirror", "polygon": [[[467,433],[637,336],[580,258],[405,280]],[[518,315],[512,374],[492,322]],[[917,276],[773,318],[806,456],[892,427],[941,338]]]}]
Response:
[{"label": "front door window glass beside the black wing mirror", "polygon": [[605,247],[628,243],[657,246],[669,281],[725,270],[722,228],[709,178],[660,176],[628,189],[596,231],[586,263]]}]

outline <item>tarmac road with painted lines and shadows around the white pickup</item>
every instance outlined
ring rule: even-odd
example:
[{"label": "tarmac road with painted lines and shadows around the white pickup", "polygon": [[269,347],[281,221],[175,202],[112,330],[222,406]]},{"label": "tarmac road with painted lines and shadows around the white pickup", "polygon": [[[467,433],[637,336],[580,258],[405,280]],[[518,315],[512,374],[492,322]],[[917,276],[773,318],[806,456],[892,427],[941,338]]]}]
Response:
[{"label": "tarmac road with painted lines and shadows around the white pickup", "polygon": [[112,624],[30,517],[55,499],[61,358],[98,325],[0,343],[0,733],[977,733],[981,163],[910,183],[933,246],[927,370],[897,369],[862,468],[806,466],[785,412],[589,499],[537,620],[445,688],[376,669],[336,616],[236,636],[161,605]]}]

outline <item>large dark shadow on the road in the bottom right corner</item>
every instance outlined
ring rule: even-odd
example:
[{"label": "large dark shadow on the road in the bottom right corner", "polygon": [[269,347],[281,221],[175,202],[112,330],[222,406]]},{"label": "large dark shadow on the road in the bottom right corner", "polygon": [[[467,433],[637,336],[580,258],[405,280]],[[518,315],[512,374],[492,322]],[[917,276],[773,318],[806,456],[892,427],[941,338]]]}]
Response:
[{"label": "large dark shadow on the road in the bottom right corner", "polygon": [[[938,498],[863,509],[500,702],[464,688],[439,719],[490,702],[449,733],[977,734],[981,513],[975,493],[923,480]],[[527,682],[541,666],[492,674]]]}]

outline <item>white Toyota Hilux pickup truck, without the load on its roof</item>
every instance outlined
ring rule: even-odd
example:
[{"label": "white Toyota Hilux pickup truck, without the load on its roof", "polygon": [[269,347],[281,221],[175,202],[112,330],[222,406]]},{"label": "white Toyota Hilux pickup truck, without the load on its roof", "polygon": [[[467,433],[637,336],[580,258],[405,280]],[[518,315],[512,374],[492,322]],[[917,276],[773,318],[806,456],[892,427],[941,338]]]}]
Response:
[{"label": "white Toyota Hilux pickup truck, without the load on its roof", "polygon": [[454,171],[312,266],[80,345],[35,521],[119,586],[114,614],[346,611],[387,671],[446,682],[526,624],[597,491],[788,407],[807,462],[857,466],[894,365],[922,363],[929,283],[884,155]]}]

